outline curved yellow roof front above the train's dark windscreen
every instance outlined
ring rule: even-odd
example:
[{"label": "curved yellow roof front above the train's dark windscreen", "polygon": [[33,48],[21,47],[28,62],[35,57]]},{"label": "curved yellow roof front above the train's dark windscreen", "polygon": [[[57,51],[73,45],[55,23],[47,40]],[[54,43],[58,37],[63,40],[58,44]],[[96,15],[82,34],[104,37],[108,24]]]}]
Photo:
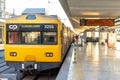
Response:
[{"label": "curved yellow roof front above the train's dark windscreen", "polygon": [[[29,17],[30,16],[30,17]],[[34,18],[32,19],[31,18]],[[28,17],[28,18],[27,18]],[[27,14],[27,15],[20,15],[17,17],[9,18],[6,20],[6,23],[8,24],[39,24],[39,23],[59,23],[60,20],[53,17],[53,16],[46,16],[46,15],[40,15],[40,14]]]}]

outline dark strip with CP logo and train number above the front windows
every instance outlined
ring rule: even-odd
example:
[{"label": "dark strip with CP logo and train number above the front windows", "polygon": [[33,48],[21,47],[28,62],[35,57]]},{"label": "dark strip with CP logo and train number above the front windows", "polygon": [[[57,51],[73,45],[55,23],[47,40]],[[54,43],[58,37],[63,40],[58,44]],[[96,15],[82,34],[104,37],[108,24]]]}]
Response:
[{"label": "dark strip with CP logo and train number above the front windows", "polygon": [[7,31],[57,31],[56,24],[8,24]]}]

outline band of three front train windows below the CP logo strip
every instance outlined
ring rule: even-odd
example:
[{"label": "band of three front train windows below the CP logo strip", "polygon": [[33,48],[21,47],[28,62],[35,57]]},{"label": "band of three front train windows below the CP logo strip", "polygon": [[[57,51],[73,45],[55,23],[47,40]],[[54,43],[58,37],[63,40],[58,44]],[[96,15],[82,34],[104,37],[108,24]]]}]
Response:
[{"label": "band of three front train windows below the CP logo strip", "polygon": [[7,35],[8,44],[57,44],[57,32],[8,32]]}]

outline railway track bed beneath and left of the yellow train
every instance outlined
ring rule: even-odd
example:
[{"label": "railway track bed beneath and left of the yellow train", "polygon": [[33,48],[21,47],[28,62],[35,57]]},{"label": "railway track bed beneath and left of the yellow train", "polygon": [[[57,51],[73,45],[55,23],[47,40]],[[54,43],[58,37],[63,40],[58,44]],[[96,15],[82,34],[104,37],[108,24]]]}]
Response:
[{"label": "railway track bed beneath and left of the yellow train", "polygon": [[15,68],[7,66],[4,57],[0,57],[0,80],[4,78],[7,78],[8,80],[55,80],[58,71],[59,68],[55,68],[42,71],[33,75],[23,75],[20,72],[15,72]]}]

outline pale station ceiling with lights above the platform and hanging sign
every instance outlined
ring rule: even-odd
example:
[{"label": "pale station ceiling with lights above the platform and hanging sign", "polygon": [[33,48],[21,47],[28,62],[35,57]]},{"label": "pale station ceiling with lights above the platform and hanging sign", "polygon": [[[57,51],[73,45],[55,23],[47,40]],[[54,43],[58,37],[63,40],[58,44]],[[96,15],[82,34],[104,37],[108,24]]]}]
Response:
[{"label": "pale station ceiling with lights above the platform and hanging sign", "polygon": [[93,26],[80,26],[80,19],[115,19],[120,16],[120,0],[59,0],[75,30],[84,31]]}]

